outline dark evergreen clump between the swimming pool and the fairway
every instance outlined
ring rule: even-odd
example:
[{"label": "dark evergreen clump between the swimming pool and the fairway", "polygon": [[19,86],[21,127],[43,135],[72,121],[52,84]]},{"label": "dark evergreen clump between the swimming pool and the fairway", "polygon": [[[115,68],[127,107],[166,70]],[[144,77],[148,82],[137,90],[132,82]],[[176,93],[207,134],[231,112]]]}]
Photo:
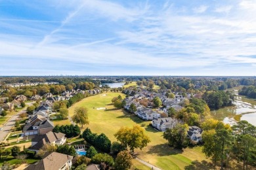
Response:
[{"label": "dark evergreen clump between the swimming pool and the fairway", "polygon": [[83,131],[83,139],[104,152],[110,152],[111,141],[104,133],[97,135],[96,133],[92,133],[91,129],[87,128]]}]

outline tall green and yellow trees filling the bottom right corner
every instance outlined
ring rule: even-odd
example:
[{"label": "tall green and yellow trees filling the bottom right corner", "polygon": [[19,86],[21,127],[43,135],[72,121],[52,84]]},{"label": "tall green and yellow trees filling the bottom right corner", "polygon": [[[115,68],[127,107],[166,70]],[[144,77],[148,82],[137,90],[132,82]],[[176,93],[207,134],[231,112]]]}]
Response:
[{"label": "tall green and yellow trees filling the bottom right corner", "polygon": [[255,166],[256,127],[242,120],[237,125],[224,125],[218,120],[205,120],[202,124],[203,152],[212,156],[215,165],[219,161],[221,168],[230,158],[243,162],[243,169]]}]

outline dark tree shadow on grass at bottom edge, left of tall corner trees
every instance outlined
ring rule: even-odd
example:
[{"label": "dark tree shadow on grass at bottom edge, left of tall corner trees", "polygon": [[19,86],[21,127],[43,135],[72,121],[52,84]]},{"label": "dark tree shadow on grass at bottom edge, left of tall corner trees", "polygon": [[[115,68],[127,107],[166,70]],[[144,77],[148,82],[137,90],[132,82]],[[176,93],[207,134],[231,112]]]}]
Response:
[{"label": "dark tree shadow on grass at bottom edge, left of tall corner trees", "polygon": [[187,165],[184,167],[186,170],[205,170],[205,169],[215,169],[213,163],[210,163],[208,161],[192,161],[190,165]]}]

